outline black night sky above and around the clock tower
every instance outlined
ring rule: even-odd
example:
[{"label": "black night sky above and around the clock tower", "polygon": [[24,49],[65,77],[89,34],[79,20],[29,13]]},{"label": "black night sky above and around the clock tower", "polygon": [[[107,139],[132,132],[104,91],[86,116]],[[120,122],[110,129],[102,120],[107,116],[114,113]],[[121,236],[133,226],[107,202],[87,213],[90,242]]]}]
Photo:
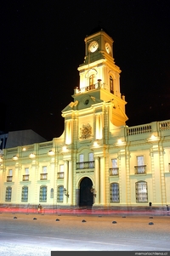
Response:
[{"label": "black night sky above and around the clock tower", "polygon": [[170,119],[170,3],[164,0],[1,1],[0,130],[51,140],[79,84],[84,38],[114,40],[128,126]]}]

